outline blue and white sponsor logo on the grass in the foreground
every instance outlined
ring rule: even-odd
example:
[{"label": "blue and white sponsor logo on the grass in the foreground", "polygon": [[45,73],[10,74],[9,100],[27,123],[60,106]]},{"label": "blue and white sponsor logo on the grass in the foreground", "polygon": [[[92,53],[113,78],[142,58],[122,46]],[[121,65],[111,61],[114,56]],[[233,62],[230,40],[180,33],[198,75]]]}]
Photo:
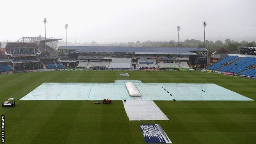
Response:
[{"label": "blue and white sponsor logo on the grass in the foreground", "polygon": [[160,124],[140,124],[140,130],[146,143],[172,144]]}]

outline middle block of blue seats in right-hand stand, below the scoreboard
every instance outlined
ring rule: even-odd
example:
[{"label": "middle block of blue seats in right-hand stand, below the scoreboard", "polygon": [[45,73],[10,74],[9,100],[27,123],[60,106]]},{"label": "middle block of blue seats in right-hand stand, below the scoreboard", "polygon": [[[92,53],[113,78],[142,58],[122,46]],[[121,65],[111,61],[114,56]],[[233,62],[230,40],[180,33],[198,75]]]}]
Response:
[{"label": "middle block of blue seats in right-hand stand, below the scoreboard", "polygon": [[256,64],[256,58],[254,57],[244,57],[237,62],[229,66],[223,66],[219,71],[228,71],[232,73],[240,73],[245,71],[247,67]]}]

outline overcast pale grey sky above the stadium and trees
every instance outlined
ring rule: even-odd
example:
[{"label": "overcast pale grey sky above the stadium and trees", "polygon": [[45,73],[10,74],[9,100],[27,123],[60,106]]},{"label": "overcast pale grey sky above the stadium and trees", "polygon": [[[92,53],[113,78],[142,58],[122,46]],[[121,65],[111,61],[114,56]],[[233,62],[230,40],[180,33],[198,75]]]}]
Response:
[{"label": "overcast pale grey sky above the stadium and trees", "polygon": [[[0,40],[46,37],[67,41],[203,40],[256,37],[256,0],[1,0]],[[44,10],[45,9],[45,10]],[[256,41],[256,40],[255,40]]]}]

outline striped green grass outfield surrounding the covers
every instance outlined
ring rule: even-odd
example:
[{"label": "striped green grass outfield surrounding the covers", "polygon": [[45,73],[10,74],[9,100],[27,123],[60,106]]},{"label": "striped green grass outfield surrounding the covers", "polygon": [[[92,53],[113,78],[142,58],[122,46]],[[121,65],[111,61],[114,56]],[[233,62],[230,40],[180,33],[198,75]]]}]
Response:
[{"label": "striped green grass outfield surrounding the covers", "polygon": [[[119,73],[127,72],[129,77]],[[18,101],[43,82],[215,83],[256,100],[256,81],[190,71],[53,71],[0,75],[6,144],[144,144],[139,124],[159,123],[174,144],[256,144],[256,101],[155,101],[169,121],[129,121],[121,101]]]}]

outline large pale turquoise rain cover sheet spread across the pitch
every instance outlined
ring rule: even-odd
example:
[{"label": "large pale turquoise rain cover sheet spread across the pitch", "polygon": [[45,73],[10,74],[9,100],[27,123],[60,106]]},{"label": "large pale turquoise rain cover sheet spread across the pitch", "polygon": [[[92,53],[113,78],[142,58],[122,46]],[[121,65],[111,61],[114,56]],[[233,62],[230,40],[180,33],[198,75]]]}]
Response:
[{"label": "large pale turquoise rain cover sheet spread across the pitch", "polygon": [[160,101],[254,101],[215,84],[142,83],[115,80],[115,83],[43,83],[21,100],[132,100],[125,83],[133,82],[142,100]]}]

